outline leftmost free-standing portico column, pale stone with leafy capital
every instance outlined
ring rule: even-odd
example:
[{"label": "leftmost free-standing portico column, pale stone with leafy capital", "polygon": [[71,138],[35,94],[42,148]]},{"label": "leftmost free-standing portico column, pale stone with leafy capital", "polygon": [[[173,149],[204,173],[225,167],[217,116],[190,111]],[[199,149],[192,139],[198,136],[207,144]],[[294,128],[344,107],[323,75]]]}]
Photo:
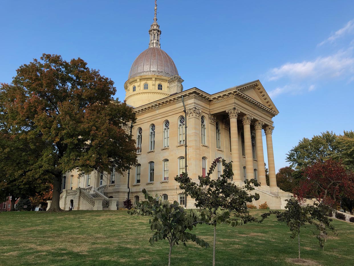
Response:
[{"label": "leftmost free-standing portico column, pale stone with leafy capital", "polygon": [[235,107],[226,111],[230,117],[230,132],[231,132],[231,160],[232,171],[234,172],[234,181],[242,181],[240,174],[240,156],[239,156],[239,134],[237,131],[237,116],[240,110]]}]

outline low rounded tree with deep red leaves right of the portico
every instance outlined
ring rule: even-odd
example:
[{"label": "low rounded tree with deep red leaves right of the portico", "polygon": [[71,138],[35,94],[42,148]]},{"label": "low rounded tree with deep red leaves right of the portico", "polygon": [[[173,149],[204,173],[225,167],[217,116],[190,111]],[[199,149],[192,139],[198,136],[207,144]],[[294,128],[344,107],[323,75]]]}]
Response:
[{"label": "low rounded tree with deep red leaves right of the portico", "polygon": [[315,198],[320,203],[333,205],[339,194],[351,196],[353,193],[354,173],[332,159],[308,166],[304,177],[293,190],[299,200]]}]

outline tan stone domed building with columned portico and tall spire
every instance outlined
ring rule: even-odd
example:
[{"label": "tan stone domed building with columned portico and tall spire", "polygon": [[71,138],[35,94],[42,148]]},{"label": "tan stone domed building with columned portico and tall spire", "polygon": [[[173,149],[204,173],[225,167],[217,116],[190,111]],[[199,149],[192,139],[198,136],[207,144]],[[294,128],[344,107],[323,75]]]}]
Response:
[{"label": "tan stone domed building with columned portico and tall spire", "polygon": [[[271,209],[284,208],[290,194],[276,185],[272,139],[272,118],[278,110],[261,82],[219,88],[220,92],[215,94],[196,87],[183,90],[183,79],[175,63],[161,49],[156,8],[155,5],[148,48],[132,63],[124,84],[125,101],[134,107],[137,117],[131,132],[137,143],[138,163],[124,175],[114,171],[92,172],[83,177],[76,171],[67,173],[63,177],[61,208],[116,210],[122,207],[129,190],[134,202],[141,199],[143,188],[193,207],[194,200],[185,198],[174,177],[185,171],[187,163],[189,177],[198,181],[198,176],[205,175],[217,157],[233,161],[232,182],[242,185],[245,179],[256,178],[261,183],[254,191],[260,199],[253,204],[267,201]],[[268,159],[269,186],[265,181],[264,157]],[[221,174],[219,163],[212,177],[216,179]]]}]

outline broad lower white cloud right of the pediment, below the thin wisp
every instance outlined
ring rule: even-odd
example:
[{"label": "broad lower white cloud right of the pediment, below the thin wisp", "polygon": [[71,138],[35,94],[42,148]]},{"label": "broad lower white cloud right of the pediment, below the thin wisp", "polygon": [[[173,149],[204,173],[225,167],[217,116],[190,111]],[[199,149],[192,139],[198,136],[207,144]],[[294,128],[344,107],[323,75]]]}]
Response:
[{"label": "broad lower white cloud right of the pediment, below the thin wisp", "polygon": [[268,72],[268,80],[276,81],[282,77],[291,79],[319,79],[339,77],[346,73],[353,73],[354,58],[352,48],[339,51],[327,57],[318,57],[313,61],[301,63],[285,63]]}]

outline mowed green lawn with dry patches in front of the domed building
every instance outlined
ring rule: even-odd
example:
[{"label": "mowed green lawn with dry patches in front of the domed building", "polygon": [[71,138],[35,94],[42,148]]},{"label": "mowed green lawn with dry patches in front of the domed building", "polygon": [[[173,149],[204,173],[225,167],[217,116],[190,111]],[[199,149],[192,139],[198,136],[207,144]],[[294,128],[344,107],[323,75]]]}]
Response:
[{"label": "mowed green lawn with dry patches in front of the domed building", "polygon": [[[260,215],[262,210],[252,210]],[[354,265],[354,223],[335,220],[338,236],[330,233],[321,251],[318,240],[302,229],[302,258],[315,265]],[[167,265],[168,242],[150,245],[149,217],[127,211],[3,212],[0,214],[0,265]],[[309,229],[314,229],[309,227]],[[171,265],[212,264],[212,226],[192,232],[209,242],[175,246]],[[216,265],[295,265],[297,241],[285,223],[267,218],[263,223],[217,227]]]}]

